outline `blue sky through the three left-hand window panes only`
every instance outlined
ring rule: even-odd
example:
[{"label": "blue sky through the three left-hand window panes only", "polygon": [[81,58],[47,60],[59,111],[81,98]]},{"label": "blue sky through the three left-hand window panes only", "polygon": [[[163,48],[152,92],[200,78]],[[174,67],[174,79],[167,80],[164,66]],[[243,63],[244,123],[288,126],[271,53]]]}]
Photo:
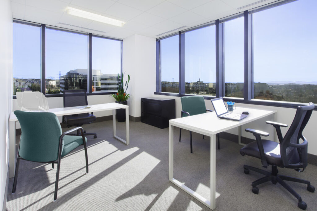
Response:
[{"label": "blue sky through the three left-hand window panes only", "polygon": [[[40,78],[40,27],[13,23],[13,77]],[[88,36],[54,29],[45,31],[45,78],[59,79],[74,69],[88,69]],[[102,74],[121,71],[121,42],[93,37],[92,68]],[[88,73],[88,70],[87,70]]]}]

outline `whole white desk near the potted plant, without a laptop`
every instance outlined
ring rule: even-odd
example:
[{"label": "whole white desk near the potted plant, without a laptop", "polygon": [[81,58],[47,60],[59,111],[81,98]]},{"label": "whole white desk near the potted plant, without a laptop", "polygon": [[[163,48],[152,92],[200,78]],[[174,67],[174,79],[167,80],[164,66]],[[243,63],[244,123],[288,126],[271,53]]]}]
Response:
[{"label": "whole white desk near the potted plant, without a laptop", "polygon": [[[113,116],[113,137],[118,139],[119,141],[125,143],[126,145],[129,145],[129,106],[122,105],[119,103],[105,103],[105,104],[97,104],[97,105],[91,105],[91,108],[88,109],[79,109],[79,107],[67,107],[67,108],[52,108],[49,109],[48,112],[55,113],[56,116],[64,116],[64,115],[71,115],[71,114],[79,114],[79,113],[90,113],[90,112],[99,112],[99,111],[108,111],[112,110],[112,116]],[[126,140],[118,137],[116,135],[116,109],[118,108],[124,108],[126,109]],[[16,159],[16,122],[18,119],[16,118],[16,115],[12,112],[10,114],[9,119],[9,130],[10,130],[10,143],[9,143],[9,166],[10,166],[10,178],[14,177],[14,170],[15,170],[15,159]]]}]

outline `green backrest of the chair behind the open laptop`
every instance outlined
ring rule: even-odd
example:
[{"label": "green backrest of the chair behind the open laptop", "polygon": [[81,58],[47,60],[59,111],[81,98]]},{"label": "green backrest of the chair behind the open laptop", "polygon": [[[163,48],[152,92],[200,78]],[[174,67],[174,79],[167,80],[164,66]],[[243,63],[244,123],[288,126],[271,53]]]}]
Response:
[{"label": "green backrest of the chair behind the open laptop", "polygon": [[[189,96],[181,97],[182,110],[188,112],[191,116],[201,113],[206,113],[206,105],[203,96]],[[183,117],[187,117],[187,114],[183,114]]]}]

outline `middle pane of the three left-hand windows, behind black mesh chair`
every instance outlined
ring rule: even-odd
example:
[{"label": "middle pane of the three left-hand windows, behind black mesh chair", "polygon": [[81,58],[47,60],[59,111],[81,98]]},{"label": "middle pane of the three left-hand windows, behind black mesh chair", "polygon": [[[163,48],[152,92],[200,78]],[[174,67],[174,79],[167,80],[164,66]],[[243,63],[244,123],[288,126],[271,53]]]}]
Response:
[{"label": "middle pane of the three left-hand windows, behind black mesh chair", "polygon": [[55,29],[45,31],[45,93],[87,90],[88,36]]}]

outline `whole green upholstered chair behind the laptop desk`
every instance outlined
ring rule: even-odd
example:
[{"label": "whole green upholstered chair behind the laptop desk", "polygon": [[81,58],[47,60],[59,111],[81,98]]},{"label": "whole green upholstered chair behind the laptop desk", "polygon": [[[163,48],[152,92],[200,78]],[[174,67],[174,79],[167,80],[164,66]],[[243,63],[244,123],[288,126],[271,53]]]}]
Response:
[{"label": "whole green upholstered chair behind the laptop desk", "polygon": [[[189,96],[181,97],[182,102],[182,112],[181,117],[187,117],[197,114],[206,113],[207,111],[212,112],[212,110],[206,109],[205,100],[203,96]],[[179,141],[181,138],[182,129],[179,130]],[[190,141],[191,141],[191,153],[193,153],[191,131],[189,131]],[[218,139],[218,150],[220,148],[219,134],[216,135]],[[203,139],[204,139],[203,135]]]}]

